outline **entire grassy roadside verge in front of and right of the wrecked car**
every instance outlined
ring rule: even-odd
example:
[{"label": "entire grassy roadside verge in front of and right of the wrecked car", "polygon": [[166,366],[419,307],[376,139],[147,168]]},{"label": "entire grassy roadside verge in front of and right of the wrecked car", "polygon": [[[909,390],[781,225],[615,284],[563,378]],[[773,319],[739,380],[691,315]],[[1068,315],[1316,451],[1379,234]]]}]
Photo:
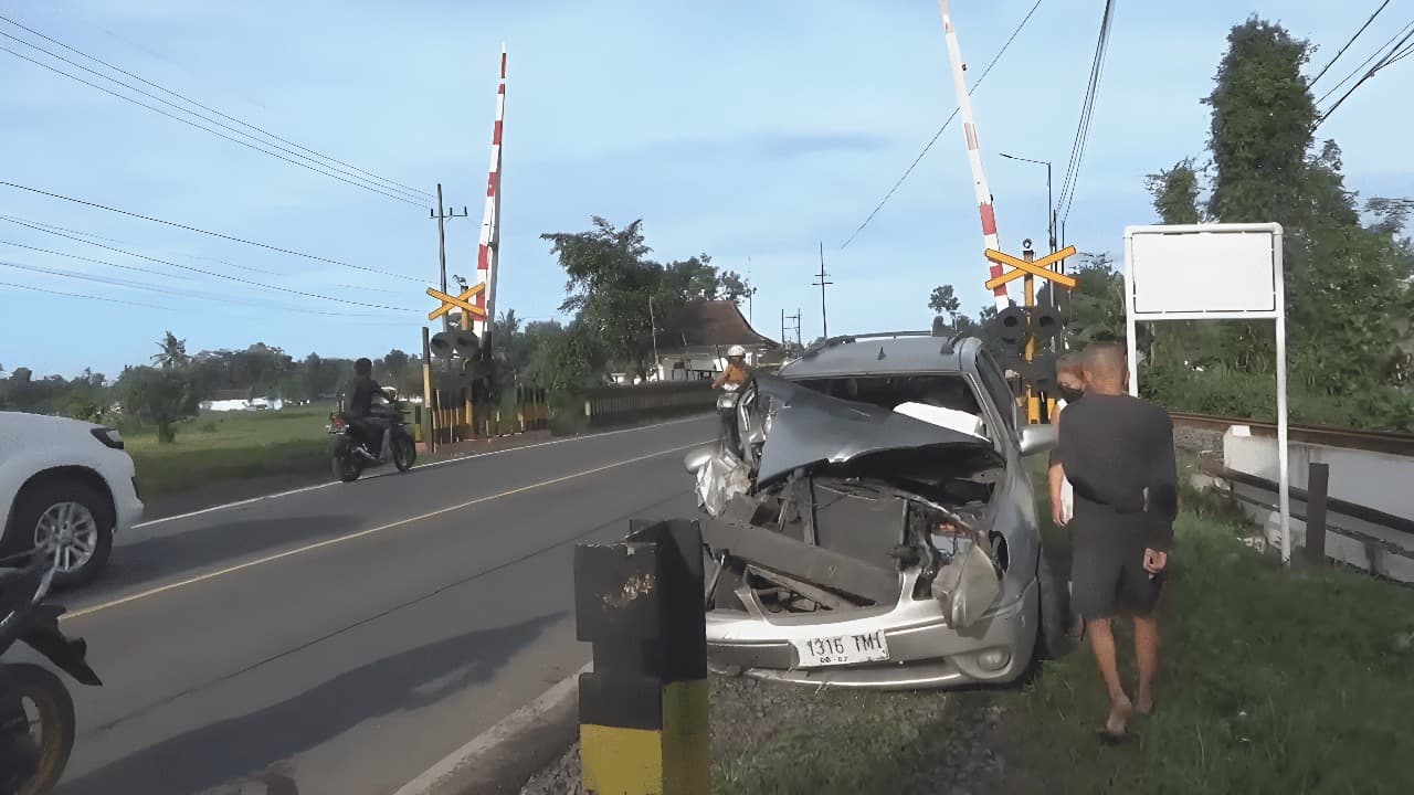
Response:
[{"label": "entire grassy roadside verge in front of and right of the wrecked car", "polygon": [[[1004,772],[952,778],[971,792],[1408,792],[1414,588],[1336,567],[1284,570],[1241,543],[1247,532],[1226,505],[1186,494],[1157,714],[1135,719],[1123,745],[1096,738],[1107,703],[1082,648],[1025,687],[851,695],[847,720],[720,760],[718,791],[946,792],[936,781],[956,771],[936,770],[939,754],[981,731]],[[1066,571],[1065,533],[1046,528],[1046,546]],[[1120,641],[1131,661],[1127,631]],[[1133,687],[1131,668],[1126,678]],[[991,714],[997,724],[978,729]]]}]

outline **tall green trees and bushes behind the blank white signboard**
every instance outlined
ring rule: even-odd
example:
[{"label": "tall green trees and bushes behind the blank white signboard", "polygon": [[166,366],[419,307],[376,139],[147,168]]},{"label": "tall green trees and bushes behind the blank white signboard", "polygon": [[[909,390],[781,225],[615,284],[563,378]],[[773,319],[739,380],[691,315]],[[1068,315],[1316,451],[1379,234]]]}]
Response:
[{"label": "tall green trees and bushes behind the blank white signboard", "polygon": [[[1148,175],[1158,222],[1280,222],[1291,419],[1414,430],[1414,201],[1362,201],[1346,187],[1340,147],[1316,137],[1324,109],[1302,75],[1311,42],[1251,18],[1232,28],[1227,44],[1213,91],[1202,98],[1212,109],[1206,158],[1185,157]],[[1077,260],[1068,273],[1079,286],[1062,296],[1070,347],[1123,341],[1116,256]],[[1039,303],[1049,300],[1042,286]],[[984,337],[980,324],[995,314],[991,307],[976,320],[962,313],[950,284],[933,290],[929,307],[959,331]],[[1141,327],[1135,344],[1145,362],[1140,388],[1159,405],[1275,419],[1270,323],[1169,321]]]}]

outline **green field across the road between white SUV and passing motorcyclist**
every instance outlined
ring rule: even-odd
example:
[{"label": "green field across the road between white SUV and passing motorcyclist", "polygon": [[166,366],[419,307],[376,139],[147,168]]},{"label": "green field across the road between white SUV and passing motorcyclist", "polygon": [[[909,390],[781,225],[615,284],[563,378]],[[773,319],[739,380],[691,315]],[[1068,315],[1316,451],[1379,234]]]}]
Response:
[{"label": "green field across the road between white SUV and passing motorcyclist", "polygon": [[212,412],[181,423],[171,444],[158,444],[150,430],[126,433],[124,441],[144,499],[218,481],[314,475],[329,468],[325,424],[331,409]]}]

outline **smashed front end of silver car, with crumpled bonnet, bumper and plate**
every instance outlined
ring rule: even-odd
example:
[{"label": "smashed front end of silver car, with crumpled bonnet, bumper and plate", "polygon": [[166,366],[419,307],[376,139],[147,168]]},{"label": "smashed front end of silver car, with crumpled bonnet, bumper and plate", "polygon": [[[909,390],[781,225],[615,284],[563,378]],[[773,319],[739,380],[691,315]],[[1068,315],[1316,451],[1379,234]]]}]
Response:
[{"label": "smashed front end of silver car, with crumpled bonnet, bumper and plate", "polygon": [[995,446],[779,379],[759,388],[752,485],[721,455],[732,484],[704,505],[711,668],[878,689],[1017,679],[1038,593],[1007,571],[1024,529]]}]

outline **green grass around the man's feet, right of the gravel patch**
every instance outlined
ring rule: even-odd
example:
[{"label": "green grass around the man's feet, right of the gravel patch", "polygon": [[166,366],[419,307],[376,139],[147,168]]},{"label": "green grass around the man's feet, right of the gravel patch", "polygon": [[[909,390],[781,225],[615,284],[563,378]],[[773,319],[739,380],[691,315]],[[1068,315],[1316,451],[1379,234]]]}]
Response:
[{"label": "green grass around the man's feet, right of the gravel patch", "polygon": [[[1158,714],[1104,748],[1089,651],[1049,662],[1029,692],[1003,699],[1019,771],[1007,789],[1407,792],[1414,590],[1346,569],[1284,570],[1240,542],[1250,530],[1226,505],[1192,491],[1175,529]],[[1128,663],[1131,635],[1118,639]]]}]

